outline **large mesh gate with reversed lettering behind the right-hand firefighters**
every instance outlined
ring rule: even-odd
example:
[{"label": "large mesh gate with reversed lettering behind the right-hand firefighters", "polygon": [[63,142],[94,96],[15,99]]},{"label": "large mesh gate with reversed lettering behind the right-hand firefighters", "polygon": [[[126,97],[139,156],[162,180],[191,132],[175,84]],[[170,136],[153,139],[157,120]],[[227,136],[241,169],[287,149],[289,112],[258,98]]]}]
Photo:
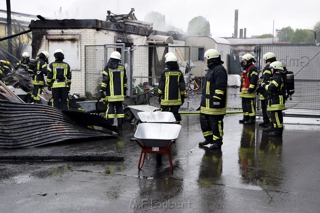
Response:
[{"label": "large mesh gate with reversed lettering behind the right-hand firefighters", "polygon": [[[294,73],[295,92],[285,102],[285,115],[320,117],[320,47],[315,44],[264,44],[257,45],[256,58],[259,70],[265,66],[262,56],[273,52],[277,61]],[[261,110],[260,101],[257,104]]]}]

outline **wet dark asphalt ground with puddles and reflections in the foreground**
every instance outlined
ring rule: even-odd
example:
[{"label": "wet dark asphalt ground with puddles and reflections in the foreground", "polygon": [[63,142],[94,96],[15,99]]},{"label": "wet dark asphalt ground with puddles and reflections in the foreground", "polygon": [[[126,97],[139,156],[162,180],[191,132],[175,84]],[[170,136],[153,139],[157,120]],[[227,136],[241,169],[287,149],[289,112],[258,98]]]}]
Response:
[{"label": "wet dark asphalt ground with puddles and reflections in the foreground", "polygon": [[284,117],[283,137],[273,138],[259,120],[244,125],[241,118],[225,116],[222,148],[211,150],[198,146],[204,140],[199,115],[182,115],[171,148],[173,172],[168,156],[157,164],[155,154],[138,170],[141,148],[129,141],[136,130],[131,122],[114,138],[0,150],[124,157],[0,161],[0,212],[319,212],[319,119]]}]

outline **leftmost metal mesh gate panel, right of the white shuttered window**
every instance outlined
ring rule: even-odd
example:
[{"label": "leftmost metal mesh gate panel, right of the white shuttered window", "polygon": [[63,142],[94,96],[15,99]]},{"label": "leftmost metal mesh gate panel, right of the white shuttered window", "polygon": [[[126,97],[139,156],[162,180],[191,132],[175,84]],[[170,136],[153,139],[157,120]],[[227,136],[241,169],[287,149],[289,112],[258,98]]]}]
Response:
[{"label": "leftmost metal mesh gate panel, right of the white shuttered window", "polygon": [[102,72],[113,51],[120,52],[121,59],[124,59],[124,44],[84,46],[84,92],[87,98],[92,95],[94,100],[98,100],[100,97]]}]

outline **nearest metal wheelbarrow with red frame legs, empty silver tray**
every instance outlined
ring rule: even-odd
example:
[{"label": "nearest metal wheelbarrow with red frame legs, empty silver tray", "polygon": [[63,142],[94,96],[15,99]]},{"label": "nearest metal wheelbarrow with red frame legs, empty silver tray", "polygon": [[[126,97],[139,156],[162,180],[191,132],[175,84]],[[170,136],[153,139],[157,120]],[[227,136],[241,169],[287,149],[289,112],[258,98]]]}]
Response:
[{"label": "nearest metal wheelbarrow with red frame legs, empty silver tray", "polygon": [[[179,136],[181,126],[178,124],[141,123],[138,125],[134,138],[141,147],[138,163],[140,170],[144,164],[147,153],[168,154],[171,171],[173,171],[170,148]],[[143,154],[143,159],[142,159]],[[158,155],[157,155],[158,156]],[[142,159],[142,163],[141,163]]]}]

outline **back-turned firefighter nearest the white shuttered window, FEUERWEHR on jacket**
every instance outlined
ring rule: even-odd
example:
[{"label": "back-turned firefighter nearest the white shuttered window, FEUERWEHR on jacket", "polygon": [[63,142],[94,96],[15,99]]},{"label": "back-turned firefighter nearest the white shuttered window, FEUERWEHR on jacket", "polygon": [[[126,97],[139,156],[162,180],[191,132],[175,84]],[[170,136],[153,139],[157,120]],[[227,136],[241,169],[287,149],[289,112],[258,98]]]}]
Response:
[{"label": "back-turned firefighter nearest the white shuttered window, FEUERWEHR on jacket", "polygon": [[61,107],[61,110],[68,110],[68,93],[71,87],[71,68],[68,63],[63,61],[63,50],[57,49],[54,51],[53,56],[55,61],[49,65],[47,77],[48,90],[52,90],[52,106],[57,109],[60,109]]}]

